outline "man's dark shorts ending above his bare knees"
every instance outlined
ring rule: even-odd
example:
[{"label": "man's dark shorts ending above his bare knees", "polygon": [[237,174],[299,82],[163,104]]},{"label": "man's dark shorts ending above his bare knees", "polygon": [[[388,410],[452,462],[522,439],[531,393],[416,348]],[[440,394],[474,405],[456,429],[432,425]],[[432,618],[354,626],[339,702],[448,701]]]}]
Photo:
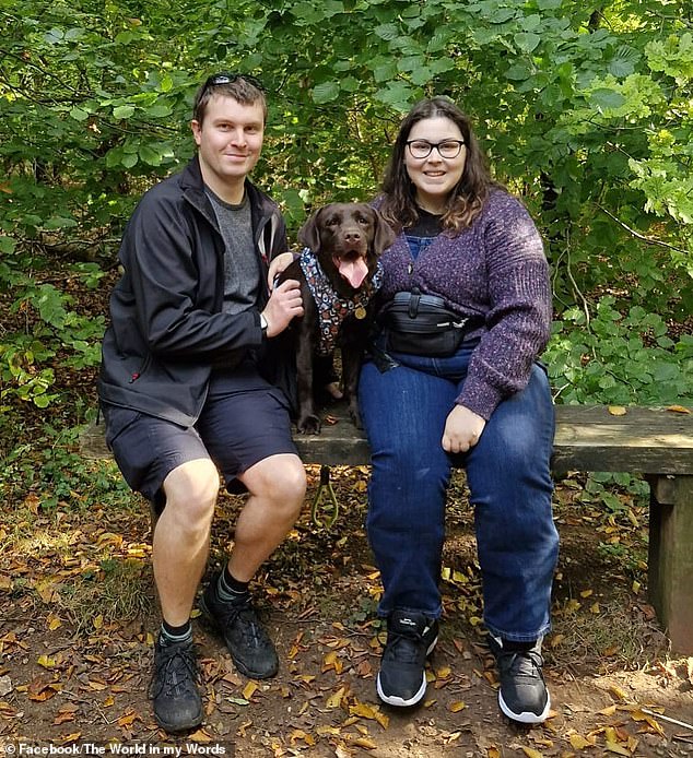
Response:
[{"label": "man's dark shorts ending above his bare knees", "polygon": [[270,455],[297,454],[284,394],[250,369],[212,374],[191,427],[115,405],[102,410],[106,442],[126,482],[158,508],[164,479],[188,461],[211,459],[228,491],[242,493],[238,474]]}]

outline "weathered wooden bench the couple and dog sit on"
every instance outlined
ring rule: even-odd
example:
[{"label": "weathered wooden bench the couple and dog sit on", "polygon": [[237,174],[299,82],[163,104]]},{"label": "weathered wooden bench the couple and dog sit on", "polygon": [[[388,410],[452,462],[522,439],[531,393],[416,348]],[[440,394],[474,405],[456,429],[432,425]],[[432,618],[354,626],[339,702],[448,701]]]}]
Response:
[{"label": "weathered wooden bench the couple and dog sit on", "polygon": [[[320,435],[296,435],[306,463],[363,465],[363,433],[339,412]],[[103,427],[91,427],[82,449],[108,455]],[[672,648],[693,654],[693,413],[629,407],[557,405],[552,469],[642,474],[650,485],[649,600]]]}]

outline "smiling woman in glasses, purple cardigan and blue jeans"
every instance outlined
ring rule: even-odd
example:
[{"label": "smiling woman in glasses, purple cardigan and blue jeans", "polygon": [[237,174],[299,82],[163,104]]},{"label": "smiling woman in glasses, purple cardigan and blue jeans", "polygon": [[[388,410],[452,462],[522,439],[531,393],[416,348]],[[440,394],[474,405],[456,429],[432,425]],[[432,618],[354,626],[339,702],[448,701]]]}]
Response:
[{"label": "smiling woman in glasses, purple cardigan and blue jeans", "polygon": [[[442,612],[446,488],[461,464],[500,706],[540,723],[550,710],[540,650],[559,544],[553,406],[536,363],[551,323],[541,239],[521,203],[491,180],[469,119],[443,97],[403,119],[376,204],[398,233],[381,258],[380,329],[359,388],[373,463],[367,531],[387,618],[377,692],[402,707],[424,697]],[[431,342],[408,345],[391,317],[398,293],[437,296],[459,323],[468,319],[459,346],[422,355]]]}]

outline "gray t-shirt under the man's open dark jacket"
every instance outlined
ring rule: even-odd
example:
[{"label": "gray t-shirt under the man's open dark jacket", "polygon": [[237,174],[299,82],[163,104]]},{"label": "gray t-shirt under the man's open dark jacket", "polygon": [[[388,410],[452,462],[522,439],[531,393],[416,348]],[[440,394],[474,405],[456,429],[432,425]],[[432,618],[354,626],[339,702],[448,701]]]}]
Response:
[{"label": "gray t-shirt under the man's open dark jacket", "polygon": [[226,251],[224,254],[224,312],[240,313],[257,305],[260,262],[252,244],[250,202],[246,194],[239,205],[224,202],[205,187]]}]

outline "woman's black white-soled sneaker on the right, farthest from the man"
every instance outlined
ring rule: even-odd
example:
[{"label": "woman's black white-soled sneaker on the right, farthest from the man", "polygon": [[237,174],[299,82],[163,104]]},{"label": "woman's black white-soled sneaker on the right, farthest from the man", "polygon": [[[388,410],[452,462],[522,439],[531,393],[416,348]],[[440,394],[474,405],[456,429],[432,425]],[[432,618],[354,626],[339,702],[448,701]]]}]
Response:
[{"label": "woman's black white-soled sneaker on the right, farthest from the man", "polygon": [[551,697],[541,673],[541,640],[530,650],[504,650],[503,641],[489,637],[501,688],[498,706],[505,715],[522,724],[541,724],[551,710]]}]

